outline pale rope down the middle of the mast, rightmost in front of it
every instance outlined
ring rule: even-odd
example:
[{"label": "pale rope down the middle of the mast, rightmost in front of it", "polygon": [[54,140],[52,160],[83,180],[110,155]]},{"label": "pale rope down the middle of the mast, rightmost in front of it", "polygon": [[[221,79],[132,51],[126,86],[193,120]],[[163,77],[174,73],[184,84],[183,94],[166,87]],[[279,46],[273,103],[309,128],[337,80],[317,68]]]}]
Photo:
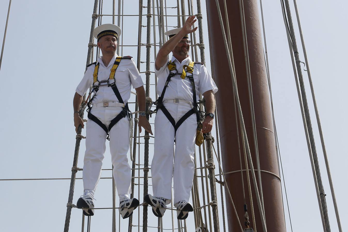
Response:
[{"label": "pale rope down the middle of the mast, rightmost in front of it", "polygon": [[[253,126],[253,137],[254,137],[254,148],[255,148],[255,156],[256,156],[256,167],[260,170],[260,156],[259,156],[259,146],[258,146],[258,137],[256,131],[256,122],[255,122],[255,110],[254,110],[254,99],[253,99],[253,90],[251,83],[251,71],[250,71],[250,62],[249,62],[249,51],[248,51],[248,40],[246,34],[246,23],[245,23],[245,14],[244,14],[244,1],[239,0],[239,9],[240,9],[240,17],[242,20],[242,31],[243,31],[243,44],[244,44],[244,55],[245,55],[245,65],[247,69],[247,82],[248,82],[248,93],[249,93],[249,102],[250,102],[250,110],[251,110],[251,118],[252,118],[252,126]],[[265,223],[266,223],[266,212],[264,211],[264,202],[263,202],[263,190],[262,190],[262,178],[261,172],[258,172],[259,177],[259,185],[260,185],[260,195],[261,195],[261,205],[263,214],[265,215]]]}]

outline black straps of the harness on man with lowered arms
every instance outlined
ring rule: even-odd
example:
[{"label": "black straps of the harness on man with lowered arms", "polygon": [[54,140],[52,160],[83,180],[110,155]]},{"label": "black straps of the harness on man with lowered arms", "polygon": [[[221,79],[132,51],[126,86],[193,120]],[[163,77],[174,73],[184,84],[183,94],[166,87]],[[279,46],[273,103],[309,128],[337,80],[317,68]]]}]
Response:
[{"label": "black straps of the harness on man with lowered arms", "polygon": [[[121,59],[131,59],[131,58],[132,58],[132,57],[130,57],[130,56],[126,56],[126,57],[122,57]],[[118,67],[119,64],[120,64],[120,61],[118,61],[118,60],[116,59],[115,62],[114,62],[114,65],[117,65],[117,67]],[[98,69],[98,66],[97,66],[97,65],[98,65],[98,64],[96,64],[96,69]],[[116,69],[117,69],[117,67],[116,67]],[[116,71],[116,69],[115,69],[115,71]],[[97,71],[98,71],[98,70],[97,70]],[[114,79],[114,78],[113,78],[113,79]],[[98,82],[99,82],[99,81],[98,81]],[[109,79],[108,79],[108,81],[102,81],[102,82],[107,82],[107,83],[109,83]],[[99,82],[99,83],[102,83],[102,82]],[[118,100],[121,104],[124,104],[124,101],[123,101],[123,99],[122,99],[122,97],[121,97],[121,94],[120,94],[120,92],[119,92],[118,89],[117,89],[116,80],[115,80],[113,83],[108,84],[108,86],[111,87],[112,91],[114,92],[114,94],[115,94],[116,97],[117,97],[117,100]],[[88,106],[88,110],[87,110],[88,115],[87,115],[87,117],[88,117],[90,120],[92,120],[93,122],[95,122],[96,124],[98,124],[100,127],[102,127],[102,129],[106,132],[106,135],[107,135],[106,139],[110,140],[110,138],[109,138],[109,131],[111,130],[111,128],[112,128],[114,125],[116,125],[116,123],[118,123],[118,121],[120,121],[122,118],[126,117],[127,115],[128,115],[129,117],[131,117],[131,115],[129,114],[128,103],[125,105],[125,107],[122,107],[122,108],[123,108],[122,111],[121,111],[115,118],[113,118],[113,119],[111,120],[110,125],[109,125],[109,128],[108,128],[108,127],[106,127],[96,116],[94,116],[93,114],[90,113],[90,110],[92,109],[92,107],[90,107],[90,103],[93,101],[94,97],[95,97],[96,94],[97,94],[97,91],[99,90],[99,86],[98,86],[98,85],[94,85],[94,86],[92,86],[92,87],[93,87],[93,90],[95,91],[95,94],[94,94],[94,96],[88,101],[88,104],[87,104],[87,106]]]}]

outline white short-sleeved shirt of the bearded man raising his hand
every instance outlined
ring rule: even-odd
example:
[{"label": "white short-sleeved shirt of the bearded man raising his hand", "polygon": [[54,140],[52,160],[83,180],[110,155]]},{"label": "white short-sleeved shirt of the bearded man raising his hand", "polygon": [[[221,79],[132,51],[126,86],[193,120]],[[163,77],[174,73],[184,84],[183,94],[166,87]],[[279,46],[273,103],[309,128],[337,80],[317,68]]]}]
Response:
[{"label": "white short-sleeved shirt of the bearded man raising his hand", "polygon": [[[188,65],[190,61],[191,58],[187,57],[180,63],[174,56],[172,56],[171,60],[171,62],[175,63],[178,73],[182,73],[182,66]],[[167,77],[169,75],[167,63],[163,65],[159,70],[156,70],[155,67],[155,73],[158,77],[157,94],[159,96],[161,96],[164,84],[166,83]],[[218,90],[213,78],[204,65],[195,64],[193,66],[193,80],[195,81],[197,100],[199,100],[199,93],[203,94],[209,90],[212,90],[213,93],[216,93]],[[185,80],[183,80],[180,75],[173,76],[168,83],[166,92],[163,97],[163,100],[166,99],[182,99],[193,102],[192,85],[189,78],[186,77]]]}]

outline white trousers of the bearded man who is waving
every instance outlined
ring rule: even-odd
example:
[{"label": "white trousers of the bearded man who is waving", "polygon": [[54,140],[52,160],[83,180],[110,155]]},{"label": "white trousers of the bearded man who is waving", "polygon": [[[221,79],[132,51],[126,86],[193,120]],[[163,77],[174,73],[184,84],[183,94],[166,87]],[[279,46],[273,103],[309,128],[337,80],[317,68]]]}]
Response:
[{"label": "white trousers of the bearded man who is waving", "polygon": [[[191,109],[186,103],[164,103],[175,122]],[[152,190],[156,197],[171,199],[174,179],[174,203],[189,201],[195,169],[196,114],[187,118],[176,131],[159,110],[155,118],[155,150],[151,164]],[[174,172],[173,172],[174,160]],[[170,202],[170,201],[169,201]],[[169,204],[169,203],[168,203]]]}]

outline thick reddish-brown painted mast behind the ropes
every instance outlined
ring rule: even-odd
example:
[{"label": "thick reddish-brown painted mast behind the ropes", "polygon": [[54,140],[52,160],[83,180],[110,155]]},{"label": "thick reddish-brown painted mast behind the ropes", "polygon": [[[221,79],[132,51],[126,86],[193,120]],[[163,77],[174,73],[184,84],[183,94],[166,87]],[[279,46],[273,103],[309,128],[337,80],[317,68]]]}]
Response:
[{"label": "thick reddish-brown painted mast behind the ropes", "polygon": [[[239,0],[229,0],[227,11],[229,17],[230,36],[236,68],[236,78],[238,93],[242,106],[245,127],[247,131],[249,146],[253,157],[254,168],[256,169],[256,155],[254,149],[254,136],[252,126],[252,114],[248,93],[247,68],[245,63],[245,50],[243,43],[242,22],[240,16]],[[222,18],[225,20],[224,4],[220,0]],[[232,78],[230,75],[227,54],[224,48],[224,41],[221,26],[216,9],[215,0],[206,0],[207,22],[211,46],[212,71],[215,82],[219,88],[216,95],[216,105],[218,109],[219,130],[221,138],[221,150],[223,171],[235,172],[226,174],[226,182],[231,189],[232,199],[237,209],[240,222],[244,226],[244,197],[242,187],[242,177],[240,174],[240,161],[238,147],[241,148],[242,169],[245,168],[242,135],[240,134],[239,118],[238,128],[236,125],[237,109],[234,107],[234,93],[232,88]],[[284,209],[282,204],[281,185],[278,172],[278,160],[274,139],[274,128],[272,122],[271,103],[269,97],[269,86],[266,74],[266,64],[263,55],[261,27],[259,22],[258,4],[256,0],[244,0],[244,14],[248,44],[248,54],[250,62],[251,86],[255,112],[255,126],[258,141],[261,180],[263,189],[264,211],[266,217],[267,231],[285,232]],[[226,22],[224,21],[225,32]],[[239,142],[238,144],[238,136]],[[238,146],[239,145],[239,146]],[[266,171],[266,172],[263,172]],[[252,182],[251,172],[250,179]],[[258,177],[255,171],[256,178]],[[249,221],[254,227],[251,218],[250,200],[248,185],[246,182],[246,172],[243,171],[245,200],[248,205]],[[259,183],[259,180],[258,180]],[[251,184],[252,198],[255,212],[255,223],[258,231],[262,231],[260,212],[257,205],[255,190]],[[259,186],[260,189],[260,186]],[[226,194],[228,194],[226,192]],[[240,231],[234,209],[232,208],[229,197],[226,197],[228,229],[229,232]]]}]

